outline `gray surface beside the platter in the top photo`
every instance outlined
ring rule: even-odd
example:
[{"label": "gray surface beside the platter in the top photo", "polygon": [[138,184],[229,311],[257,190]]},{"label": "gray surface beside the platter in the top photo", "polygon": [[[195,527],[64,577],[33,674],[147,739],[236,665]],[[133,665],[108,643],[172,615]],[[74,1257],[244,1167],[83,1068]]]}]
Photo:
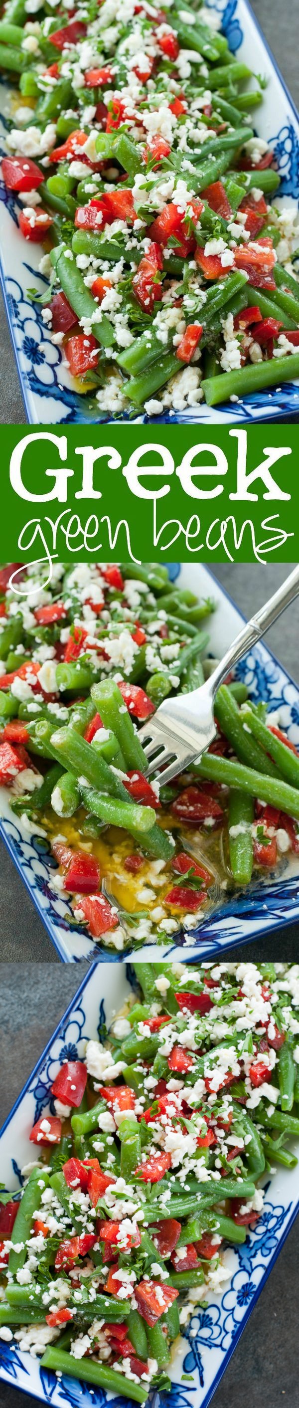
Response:
[{"label": "gray surface beside the platter in the top photo", "polygon": [[[264,30],[267,42],[272,49],[277,63],[281,68],[285,82],[299,106],[299,69],[298,69],[298,0],[251,0],[254,14]],[[21,425],[25,422],[25,413],[20,382],[13,353],[10,335],[7,331],[6,313],[0,294],[0,422],[4,425]]]}]

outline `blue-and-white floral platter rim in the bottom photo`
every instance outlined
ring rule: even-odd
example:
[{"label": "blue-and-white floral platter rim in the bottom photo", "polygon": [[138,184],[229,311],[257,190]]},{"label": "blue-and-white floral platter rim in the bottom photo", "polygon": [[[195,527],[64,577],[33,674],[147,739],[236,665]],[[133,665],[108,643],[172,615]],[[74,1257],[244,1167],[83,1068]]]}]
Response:
[{"label": "blue-and-white floral platter rim in the bottom photo", "polygon": [[[1,1178],[7,1188],[17,1188],[21,1181],[18,1170],[31,1157],[28,1132],[41,1111],[46,1105],[52,1108],[51,1084],[62,1060],[83,1056],[84,1041],[97,1038],[102,1021],[109,1025],[112,1011],[122,1008],[135,986],[136,979],[129,964],[126,969],[119,966],[114,977],[108,963],[101,973],[93,964],[83,979],[0,1132]],[[171,1397],[152,1391],[150,1408],[208,1408],[298,1211],[298,1169],[279,1169],[267,1183],[263,1217],[255,1228],[248,1229],[246,1243],[225,1253],[229,1278],[223,1290],[218,1295],[208,1293],[208,1305],[198,1305],[184,1329],[180,1350],[170,1367]],[[184,1374],[192,1376],[192,1383],[185,1383]],[[20,1352],[17,1345],[3,1340],[0,1378],[35,1394],[42,1402],[51,1402],[53,1408],[105,1408],[108,1402],[112,1408],[125,1408],[128,1404],[121,1394],[107,1398],[102,1390],[91,1391],[87,1384],[74,1378],[58,1380],[38,1360]]]}]

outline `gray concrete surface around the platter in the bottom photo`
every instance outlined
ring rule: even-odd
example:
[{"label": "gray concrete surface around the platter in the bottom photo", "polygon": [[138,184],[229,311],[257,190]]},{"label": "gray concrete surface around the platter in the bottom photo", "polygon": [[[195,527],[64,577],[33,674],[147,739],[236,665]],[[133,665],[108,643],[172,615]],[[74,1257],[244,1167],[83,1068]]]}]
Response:
[{"label": "gray concrete surface around the platter in the bottom photo", "polygon": [[[86,966],[84,966],[86,967]],[[83,976],[83,964],[80,977]],[[76,993],[79,970],[0,966],[0,1124]],[[24,1022],[25,1014],[25,1022]],[[298,1225],[292,1229],[237,1345],[213,1408],[299,1408]],[[0,1383],[1,1408],[35,1408]]]}]

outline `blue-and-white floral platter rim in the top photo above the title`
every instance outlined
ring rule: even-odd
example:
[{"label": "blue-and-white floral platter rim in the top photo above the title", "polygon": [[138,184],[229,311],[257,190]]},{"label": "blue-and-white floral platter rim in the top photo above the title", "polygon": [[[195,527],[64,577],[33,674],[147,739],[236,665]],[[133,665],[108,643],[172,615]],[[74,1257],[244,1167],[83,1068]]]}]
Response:
[{"label": "blue-and-white floral platter rim in the top photo above the title", "polygon": [[[299,199],[299,120],[292,99],[268,51],[264,37],[253,15],[248,0],[206,0],[206,7],[222,20],[222,27],[233,54],[244,58],[253,72],[264,73],[268,87],[255,122],[258,135],[267,138],[275,151],[282,184],[279,199]],[[0,127],[4,155],[7,121],[7,84],[0,76],[0,97],[3,94],[3,115]],[[271,134],[271,137],[270,137]],[[66,365],[58,346],[51,342],[49,331],[41,317],[41,306],[28,300],[28,287],[45,291],[45,277],[38,272],[41,248],[31,246],[31,265],[22,259],[24,239],[17,227],[18,201],[0,182],[0,280],[6,301],[7,318],[13,338],[18,376],[21,382],[25,411],[31,424],[111,424],[111,418],[98,413],[94,394],[80,396],[72,387]],[[211,408],[205,404],[195,410],[163,413],[161,415],[138,415],[138,422],[149,424],[254,424],[279,418],[299,417],[299,382],[289,380],[279,390],[255,393],[244,400],[226,403]],[[128,417],[124,415],[124,421]]]}]

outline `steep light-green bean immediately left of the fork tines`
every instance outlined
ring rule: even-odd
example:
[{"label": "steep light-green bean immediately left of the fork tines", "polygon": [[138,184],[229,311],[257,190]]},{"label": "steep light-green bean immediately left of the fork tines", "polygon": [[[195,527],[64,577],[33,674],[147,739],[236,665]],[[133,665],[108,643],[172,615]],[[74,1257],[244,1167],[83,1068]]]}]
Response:
[{"label": "steep light-green bean immediately left of the fork tines", "polygon": [[146,755],[139,743],[129,710],[124,704],[118,684],[114,680],[101,680],[98,684],[93,684],[91,698],[97,705],[104,728],[114,729],[126,767],[138,767],[146,772]]}]

